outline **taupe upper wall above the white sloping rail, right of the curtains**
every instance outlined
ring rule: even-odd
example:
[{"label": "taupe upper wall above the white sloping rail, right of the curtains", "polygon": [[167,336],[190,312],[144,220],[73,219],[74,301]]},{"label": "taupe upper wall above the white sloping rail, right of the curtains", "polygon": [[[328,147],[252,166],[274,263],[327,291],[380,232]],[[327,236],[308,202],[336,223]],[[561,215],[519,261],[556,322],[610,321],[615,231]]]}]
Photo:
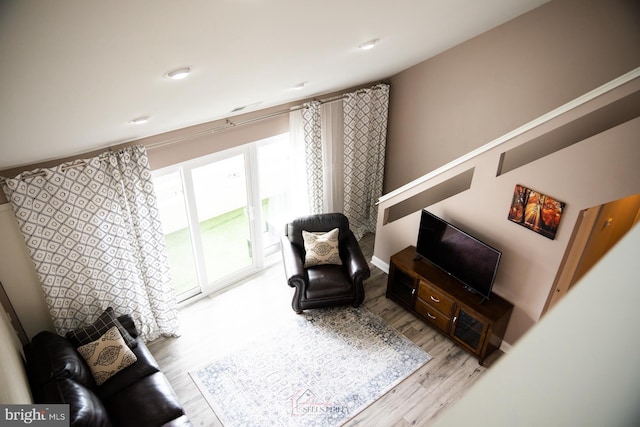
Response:
[{"label": "taupe upper wall above the white sloping rail, right of the curtains", "polygon": [[385,193],[640,66],[640,2],[554,0],[391,78]]}]

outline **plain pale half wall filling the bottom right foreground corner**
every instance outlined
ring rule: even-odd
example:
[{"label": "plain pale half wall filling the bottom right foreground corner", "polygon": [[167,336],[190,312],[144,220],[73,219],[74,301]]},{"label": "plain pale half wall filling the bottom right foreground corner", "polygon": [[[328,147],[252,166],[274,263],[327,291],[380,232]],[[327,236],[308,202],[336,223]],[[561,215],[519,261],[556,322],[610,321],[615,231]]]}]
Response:
[{"label": "plain pale half wall filling the bottom right foreground corner", "polygon": [[640,226],[433,424],[640,425]]}]

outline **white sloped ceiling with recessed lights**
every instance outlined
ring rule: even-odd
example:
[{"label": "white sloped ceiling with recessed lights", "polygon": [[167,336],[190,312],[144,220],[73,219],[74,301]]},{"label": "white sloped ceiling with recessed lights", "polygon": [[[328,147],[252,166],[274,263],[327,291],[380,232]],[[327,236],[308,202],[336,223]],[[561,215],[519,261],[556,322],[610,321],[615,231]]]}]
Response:
[{"label": "white sloped ceiling with recessed lights", "polygon": [[546,1],[0,0],[0,169],[385,79]]}]

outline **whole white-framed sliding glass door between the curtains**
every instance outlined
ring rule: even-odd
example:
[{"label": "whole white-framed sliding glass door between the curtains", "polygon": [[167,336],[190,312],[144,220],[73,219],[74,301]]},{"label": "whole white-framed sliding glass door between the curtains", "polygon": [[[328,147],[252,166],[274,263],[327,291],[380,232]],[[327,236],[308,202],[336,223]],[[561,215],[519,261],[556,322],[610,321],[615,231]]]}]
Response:
[{"label": "whole white-framed sliding glass door between the curtains", "polygon": [[154,172],[179,300],[279,258],[289,161],[285,134]]}]

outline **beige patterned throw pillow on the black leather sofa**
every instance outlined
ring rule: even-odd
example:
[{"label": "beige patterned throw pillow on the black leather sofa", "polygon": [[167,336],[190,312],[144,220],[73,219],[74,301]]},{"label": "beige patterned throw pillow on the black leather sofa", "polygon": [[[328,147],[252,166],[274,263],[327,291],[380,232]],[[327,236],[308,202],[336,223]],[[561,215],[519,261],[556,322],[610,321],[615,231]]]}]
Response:
[{"label": "beige patterned throw pillow on the black leather sofa", "polygon": [[115,326],[97,340],[78,347],[78,353],[87,361],[98,385],[138,360]]}]

